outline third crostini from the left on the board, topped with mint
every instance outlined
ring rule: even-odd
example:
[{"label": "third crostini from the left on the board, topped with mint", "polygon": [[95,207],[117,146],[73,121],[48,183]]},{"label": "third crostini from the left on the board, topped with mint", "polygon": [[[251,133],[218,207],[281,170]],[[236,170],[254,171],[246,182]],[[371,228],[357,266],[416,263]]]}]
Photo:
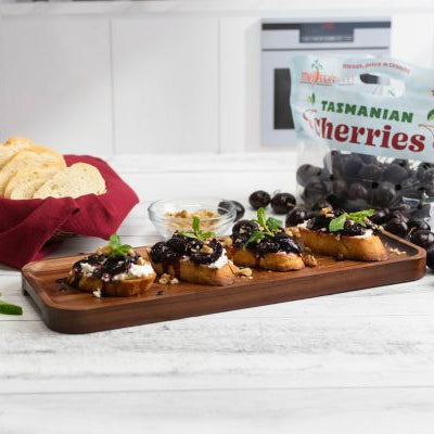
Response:
[{"label": "third crostini from the left on the board, topped with mint", "polygon": [[273,271],[305,268],[301,246],[281,225],[273,217],[266,218],[264,208],[257,210],[257,219],[238,221],[225,240],[229,258],[237,266]]}]

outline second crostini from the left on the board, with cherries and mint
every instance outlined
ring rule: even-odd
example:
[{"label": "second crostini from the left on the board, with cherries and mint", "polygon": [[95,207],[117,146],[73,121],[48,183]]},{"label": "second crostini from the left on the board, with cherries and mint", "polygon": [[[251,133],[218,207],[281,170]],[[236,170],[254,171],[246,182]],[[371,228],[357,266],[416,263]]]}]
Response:
[{"label": "second crostini from the left on the board, with cherries and mint", "polygon": [[170,240],[154,244],[150,259],[158,275],[186,282],[225,286],[234,281],[224,245],[213,232],[201,230],[199,217],[193,217],[192,230],[177,231]]}]

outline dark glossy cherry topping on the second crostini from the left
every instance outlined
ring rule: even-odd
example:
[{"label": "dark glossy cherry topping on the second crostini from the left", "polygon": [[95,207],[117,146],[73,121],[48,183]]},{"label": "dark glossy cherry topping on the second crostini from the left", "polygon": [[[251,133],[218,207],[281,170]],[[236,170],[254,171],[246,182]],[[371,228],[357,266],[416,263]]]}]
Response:
[{"label": "dark glossy cherry topping on the second crostini from the left", "polygon": [[191,261],[197,265],[215,263],[224,253],[224,246],[215,239],[206,243],[213,250],[212,253],[202,251],[204,242],[189,237],[174,233],[170,240],[161,241],[151,248],[151,258],[154,263],[173,265],[182,256],[188,256]]}]

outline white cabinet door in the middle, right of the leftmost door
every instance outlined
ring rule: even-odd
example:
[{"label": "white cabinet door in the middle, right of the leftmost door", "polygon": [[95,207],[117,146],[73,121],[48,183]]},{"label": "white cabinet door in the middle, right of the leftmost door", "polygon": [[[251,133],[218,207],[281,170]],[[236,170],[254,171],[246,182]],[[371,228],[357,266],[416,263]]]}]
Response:
[{"label": "white cabinet door in the middle, right of the leftmost door", "polygon": [[219,151],[218,20],[112,22],[117,153]]}]

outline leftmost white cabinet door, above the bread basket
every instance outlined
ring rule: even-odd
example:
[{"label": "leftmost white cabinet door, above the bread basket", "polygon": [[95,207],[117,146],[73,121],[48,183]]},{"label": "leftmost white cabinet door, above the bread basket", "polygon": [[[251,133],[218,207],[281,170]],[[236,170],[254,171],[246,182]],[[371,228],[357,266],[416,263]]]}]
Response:
[{"label": "leftmost white cabinet door, above the bread basket", "polygon": [[3,17],[0,132],[63,152],[113,152],[110,24],[101,17]]}]

